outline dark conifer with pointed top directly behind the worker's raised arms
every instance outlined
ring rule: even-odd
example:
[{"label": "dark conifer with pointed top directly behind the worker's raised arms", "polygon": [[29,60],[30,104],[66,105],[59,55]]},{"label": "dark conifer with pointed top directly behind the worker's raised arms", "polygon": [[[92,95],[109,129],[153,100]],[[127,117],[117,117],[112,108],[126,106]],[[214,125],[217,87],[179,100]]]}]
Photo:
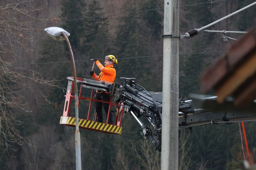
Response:
[{"label": "dark conifer with pointed top directly behind the worker's raised arms", "polygon": [[[95,0],[88,5],[88,10],[85,13],[87,19],[84,20],[83,35],[81,36],[81,59],[89,61],[92,58],[98,58],[104,65],[104,57],[115,54],[113,54],[113,41],[110,39],[108,30],[108,18],[99,17],[104,15],[102,9],[100,3]],[[93,62],[80,63],[78,70],[83,72],[81,74],[83,78],[89,78],[87,75],[92,64]],[[95,67],[94,71],[98,73],[98,68]]]}]

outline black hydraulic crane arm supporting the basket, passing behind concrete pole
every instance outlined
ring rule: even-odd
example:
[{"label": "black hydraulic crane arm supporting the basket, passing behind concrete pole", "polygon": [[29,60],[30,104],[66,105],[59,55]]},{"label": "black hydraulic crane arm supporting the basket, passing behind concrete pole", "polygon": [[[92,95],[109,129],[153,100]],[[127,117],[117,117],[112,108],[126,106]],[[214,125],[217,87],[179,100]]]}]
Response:
[{"label": "black hydraulic crane arm supporting the basket, passing behind concrete pole", "polygon": [[[68,79],[68,78],[67,78]],[[71,78],[72,79],[72,78]],[[130,113],[141,126],[140,132],[152,142],[155,150],[161,151],[162,135],[162,92],[149,92],[135,82],[135,78],[120,78],[123,85],[117,83],[84,79],[77,81],[84,87],[109,92],[115,102],[123,103],[124,113]],[[192,100],[179,99],[179,128],[191,128],[219,122],[232,123],[256,120],[256,113],[224,112],[198,109]],[[143,122],[144,120],[144,122]],[[147,123],[145,123],[145,120]],[[149,124],[148,124],[149,123]]]}]

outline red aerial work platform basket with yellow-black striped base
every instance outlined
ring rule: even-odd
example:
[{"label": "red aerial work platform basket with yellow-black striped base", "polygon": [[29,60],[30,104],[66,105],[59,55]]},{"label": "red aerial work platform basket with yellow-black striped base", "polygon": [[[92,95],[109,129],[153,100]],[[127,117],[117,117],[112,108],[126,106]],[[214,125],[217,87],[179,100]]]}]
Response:
[{"label": "red aerial work platform basket with yellow-black striped base", "polygon": [[[68,77],[68,87],[67,87],[67,92],[66,92],[66,100],[64,104],[64,111],[63,115],[60,117],[60,124],[66,125],[66,126],[73,126],[75,127],[75,117],[69,116],[70,112],[70,103],[75,101],[75,96],[73,94],[73,78]],[[88,130],[93,130],[93,131],[100,131],[104,133],[113,133],[113,134],[121,134],[122,132],[122,127],[121,127],[121,122],[122,122],[122,117],[123,117],[123,105],[122,102],[117,103],[112,103],[112,98],[113,98],[113,92],[116,89],[115,87],[118,86],[117,83],[109,84],[109,83],[104,83],[104,82],[99,82],[99,81],[94,81],[90,79],[83,79],[83,78],[77,78],[77,83],[80,84],[80,91],[79,91],[79,96],[78,96],[78,107],[80,105],[81,100],[87,100],[89,103],[89,109],[88,109],[88,114],[86,115],[85,113],[79,113],[79,117],[83,116],[85,118],[79,118],[79,128],[83,129],[88,129]],[[90,98],[82,96],[82,89],[83,87],[86,87],[87,89],[92,89]],[[79,89],[79,86],[78,86]],[[91,116],[90,110],[93,107],[93,102],[94,101],[100,101],[100,100],[95,100],[93,99],[94,96],[94,91],[95,89],[98,90],[104,90],[106,92],[109,92],[110,95],[110,102],[105,102],[109,103],[109,111],[107,115],[107,120],[106,123],[100,123],[96,122],[97,120],[97,114]],[[104,101],[100,101],[104,102]],[[115,116],[113,115],[113,120],[115,120],[115,124],[107,124],[108,118],[109,118],[109,113],[111,112],[111,107],[115,107],[116,110],[116,119]]]}]

